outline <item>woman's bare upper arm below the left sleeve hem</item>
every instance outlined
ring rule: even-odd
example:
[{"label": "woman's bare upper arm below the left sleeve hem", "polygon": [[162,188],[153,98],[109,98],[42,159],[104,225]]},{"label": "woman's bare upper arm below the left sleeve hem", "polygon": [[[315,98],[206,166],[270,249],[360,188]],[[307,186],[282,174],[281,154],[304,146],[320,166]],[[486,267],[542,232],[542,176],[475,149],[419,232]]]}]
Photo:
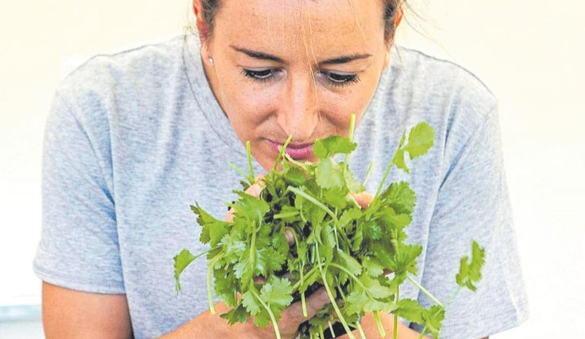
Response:
[{"label": "woman's bare upper arm below the left sleeve hem", "polygon": [[52,338],[132,338],[126,295],[80,292],[43,282],[43,327]]}]

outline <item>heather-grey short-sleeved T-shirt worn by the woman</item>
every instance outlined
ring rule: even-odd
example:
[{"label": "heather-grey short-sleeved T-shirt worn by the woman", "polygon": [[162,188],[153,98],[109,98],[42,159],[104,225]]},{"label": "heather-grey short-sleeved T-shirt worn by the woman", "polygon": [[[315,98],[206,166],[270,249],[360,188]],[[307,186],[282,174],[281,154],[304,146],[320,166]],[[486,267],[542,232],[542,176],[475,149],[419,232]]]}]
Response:
[{"label": "heather-grey short-sleeved T-shirt worn by the woman", "polygon": [[[388,179],[407,180],[417,193],[407,242],[424,246],[418,279],[445,301],[472,239],[487,252],[479,289],[463,290],[449,306],[443,338],[518,326],[528,306],[497,99],[449,61],[401,46],[391,60],[356,128],[350,167],[364,178],[373,161],[367,190],[375,192],[402,132],[431,123],[435,147],[412,162],[410,174],[393,170]],[[177,295],[173,257],[185,247],[206,249],[189,207],[195,200],[225,217],[240,180],[228,160],[245,168],[245,147],[208,85],[197,37],[91,58],[59,85],[47,119],[37,276],[76,290],[125,293],[136,338],[174,330],[208,307],[205,259],[185,270]],[[401,298],[432,305],[410,282]]]}]

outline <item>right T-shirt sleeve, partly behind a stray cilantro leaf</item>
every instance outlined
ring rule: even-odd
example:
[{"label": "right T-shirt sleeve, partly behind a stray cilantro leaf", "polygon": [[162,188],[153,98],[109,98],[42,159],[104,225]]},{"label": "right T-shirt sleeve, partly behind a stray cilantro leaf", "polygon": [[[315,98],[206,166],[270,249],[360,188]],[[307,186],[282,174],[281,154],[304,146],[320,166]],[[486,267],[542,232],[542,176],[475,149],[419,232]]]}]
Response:
[{"label": "right T-shirt sleeve, partly behind a stray cilantro leaf", "polygon": [[[486,250],[477,291],[463,288],[446,306],[443,339],[487,337],[528,317],[498,119],[496,106],[457,147],[429,225],[422,285],[442,302],[457,290],[460,258],[471,255],[472,240]],[[433,305],[423,293],[418,299]]]}]

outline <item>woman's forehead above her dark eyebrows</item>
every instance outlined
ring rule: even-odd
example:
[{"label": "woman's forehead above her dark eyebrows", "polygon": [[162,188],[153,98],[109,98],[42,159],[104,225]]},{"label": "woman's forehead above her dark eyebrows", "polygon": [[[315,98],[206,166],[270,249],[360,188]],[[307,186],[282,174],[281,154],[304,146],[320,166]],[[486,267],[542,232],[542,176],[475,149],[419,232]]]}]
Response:
[{"label": "woman's forehead above her dark eyebrows", "polygon": [[383,9],[377,0],[223,0],[214,36],[284,56],[371,52],[384,44]]}]

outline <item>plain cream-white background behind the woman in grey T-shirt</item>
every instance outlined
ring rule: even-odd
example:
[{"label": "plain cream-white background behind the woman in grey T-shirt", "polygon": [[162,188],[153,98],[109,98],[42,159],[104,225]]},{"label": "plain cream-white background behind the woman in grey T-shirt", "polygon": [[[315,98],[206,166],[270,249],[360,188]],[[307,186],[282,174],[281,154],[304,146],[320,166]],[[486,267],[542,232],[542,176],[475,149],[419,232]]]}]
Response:
[{"label": "plain cream-white background behind the woman in grey T-shirt", "polygon": [[[531,317],[494,338],[579,337],[585,317],[585,5],[580,1],[412,0],[397,43],[456,61],[500,99],[504,164]],[[170,39],[187,0],[11,1],[0,12],[0,306],[40,303],[44,122],[78,63]],[[415,29],[421,33],[415,32]],[[0,337],[42,337],[40,322]]]}]

